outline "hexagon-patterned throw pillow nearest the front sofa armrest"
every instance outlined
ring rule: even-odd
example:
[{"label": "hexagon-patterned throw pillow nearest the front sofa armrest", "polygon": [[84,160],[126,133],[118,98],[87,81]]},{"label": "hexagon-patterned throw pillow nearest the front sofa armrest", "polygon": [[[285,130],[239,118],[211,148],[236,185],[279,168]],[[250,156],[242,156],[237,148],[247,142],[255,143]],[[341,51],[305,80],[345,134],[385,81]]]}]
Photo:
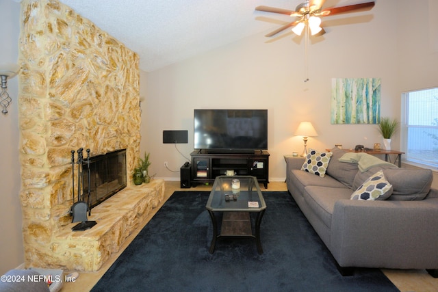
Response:
[{"label": "hexagon-patterned throw pillow nearest the front sofa armrest", "polygon": [[383,170],[379,170],[363,182],[351,195],[351,200],[386,200],[392,191],[393,187],[383,175]]}]

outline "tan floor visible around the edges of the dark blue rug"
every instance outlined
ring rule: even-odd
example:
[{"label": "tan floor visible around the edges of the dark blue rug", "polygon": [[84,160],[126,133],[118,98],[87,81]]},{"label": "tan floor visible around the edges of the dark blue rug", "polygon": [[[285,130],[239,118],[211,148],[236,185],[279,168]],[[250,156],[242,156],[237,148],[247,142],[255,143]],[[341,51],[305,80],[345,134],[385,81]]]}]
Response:
[{"label": "tan floor visible around the edges of the dark blue rug", "polygon": [[[263,185],[260,186],[262,191],[287,191],[286,184],[283,182],[271,182],[268,185],[268,189],[265,189]],[[180,189],[179,181],[166,181],[166,191],[164,195],[164,202],[173,194],[174,191],[188,191],[190,189]],[[198,185],[196,188],[192,188],[192,190],[200,190],[200,191],[210,191],[211,185]],[[164,204],[162,202],[162,204]],[[159,206],[161,207],[162,204]],[[142,226],[147,224],[149,220],[155,215],[156,211],[159,208],[155,209],[155,212],[152,213],[146,220],[143,222]],[[79,278],[75,282],[64,282],[64,286],[62,287],[62,292],[66,291],[90,291],[94,284],[99,281],[99,279],[105,274],[107,269],[109,269],[116,261],[118,256],[125,250],[125,248],[131,243],[131,241],[138,235],[142,228],[138,228],[135,233],[130,235],[125,241],[125,244],[120,248],[120,251],[116,254],[113,254],[103,267],[99,271],[94,272],[81,272],[79,274]],[[438,278],[433,278],[429,274],[427,274],[424,270],[398,270],[398,269],[383,269],[383,273],[393,282],[396,287],[402,292],[438,292]],[[64,275],[69,274],[68,271],[64,272]]]}]

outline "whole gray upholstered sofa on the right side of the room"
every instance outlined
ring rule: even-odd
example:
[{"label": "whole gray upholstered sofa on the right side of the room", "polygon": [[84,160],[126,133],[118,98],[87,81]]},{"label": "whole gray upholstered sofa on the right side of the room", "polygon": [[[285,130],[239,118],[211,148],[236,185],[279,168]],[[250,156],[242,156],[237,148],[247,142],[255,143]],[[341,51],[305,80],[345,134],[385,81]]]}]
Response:
[{"label": "whole gray upholstered sofa on the right side of the room", "polygon": [[[320,166],[316,174],[301,170],[304,157],[285,158],[287,189],[339,271],[347,276],[354,267],[427,269],[437,278],[438,190],[430,188],[432,172],[385,161],[359,170],[358,163],[339,161],[345,153],[331,150],[325,175]],[[378,170],[391,185],[389,198],[352,200],[355,190]]]}]

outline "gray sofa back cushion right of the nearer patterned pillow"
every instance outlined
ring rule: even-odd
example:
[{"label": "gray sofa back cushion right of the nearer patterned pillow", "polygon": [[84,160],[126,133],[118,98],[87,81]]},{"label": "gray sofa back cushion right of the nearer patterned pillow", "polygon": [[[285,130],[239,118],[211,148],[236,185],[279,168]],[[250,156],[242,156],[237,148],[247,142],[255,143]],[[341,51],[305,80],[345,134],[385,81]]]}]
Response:
[{"label": "gray sofa back cushion right of the nearer patterned pillow", "polygon": [[394,187],[389,200],[423,200],[433,181],[432,170],[408,170],[406,168],[383,170]]}]

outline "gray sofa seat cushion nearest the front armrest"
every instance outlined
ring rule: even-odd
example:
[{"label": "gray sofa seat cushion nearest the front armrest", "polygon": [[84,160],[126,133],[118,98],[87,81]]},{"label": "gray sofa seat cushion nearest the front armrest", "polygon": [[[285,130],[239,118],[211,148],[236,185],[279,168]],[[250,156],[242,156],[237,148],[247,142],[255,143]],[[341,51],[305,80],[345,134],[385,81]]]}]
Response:
[{"label": "gray sofa seat cushion nearest the front armrest", "polygon": [[305,187],[304,198],[313,213],[330,229],[335,202],[350,199],[351,193],[352,190],[347,187],[308,186]]}]

